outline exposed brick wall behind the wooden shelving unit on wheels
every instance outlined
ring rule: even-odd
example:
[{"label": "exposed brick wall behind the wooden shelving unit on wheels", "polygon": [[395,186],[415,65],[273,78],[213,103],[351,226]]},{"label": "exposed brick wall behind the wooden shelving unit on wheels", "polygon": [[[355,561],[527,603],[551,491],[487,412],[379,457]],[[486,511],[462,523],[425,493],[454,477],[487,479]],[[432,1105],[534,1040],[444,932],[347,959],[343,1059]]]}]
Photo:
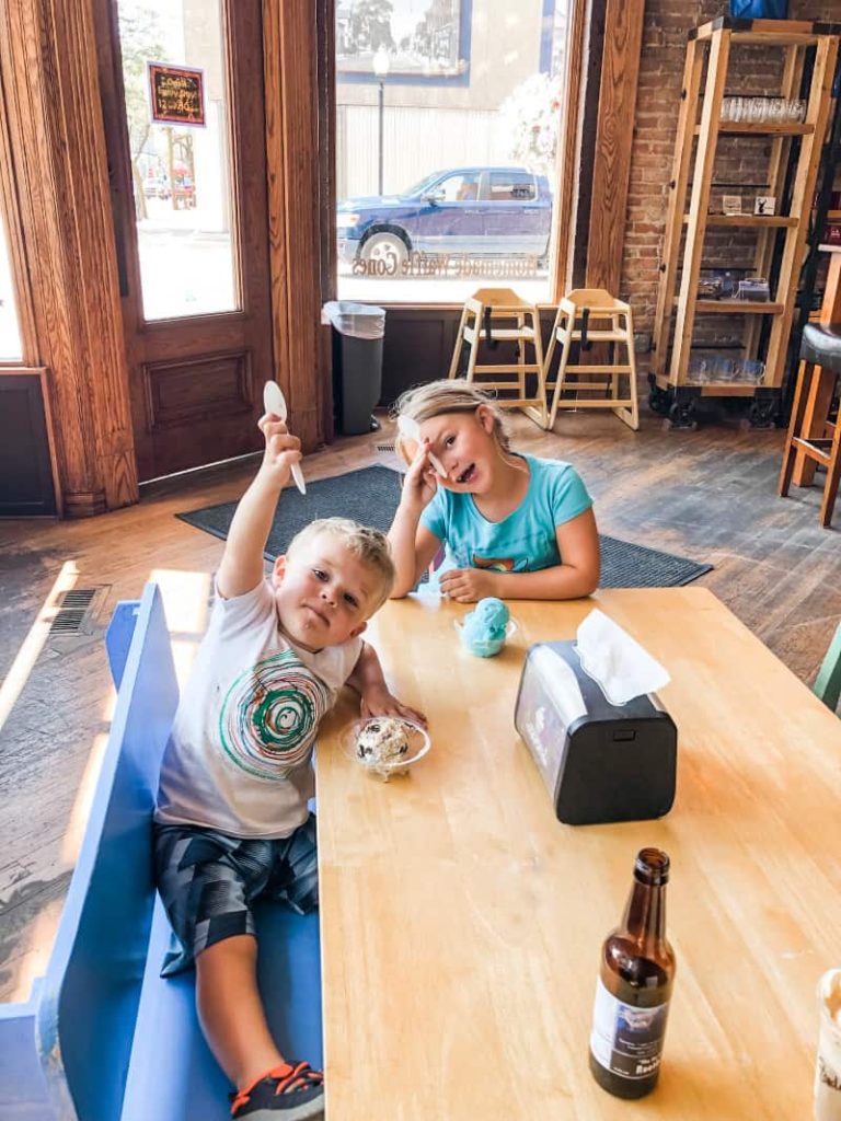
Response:
[{"label": "exposed brick wall behind the wooden shelving unit on wheels", "polygon": [[[686,33],[729,11],[729,6],[711,0],[647,0],[643,31],[643,56],[637,94],[637,114],[628,189],[625,260],[621,295],[634,307],[635,327],[650,331],[657,302],[658,266],[663,252],[668,182],[677,131]],[[793,19],[839,20],[839,0],[791,0]],[[728,92],[773,92],[769,83],[778,80],[780,50],[757,47],[733,48]],[[764,178],[767,141],[750,138],[722,139],[714,178],[750,183]],[[723,193],[723,192],[722,192]],[[738,194],[738,191],[728,193]],[[746,188],[746,205],[752,207],[758,188]],[[717,231],[721,234],[721,231]],[[743,234],[733,238],[708,237],[711,263],[747,265],[752,240]],[[709,321],[708,321],[709,322]],[[731,325],[715,324],[715,337],[723,337]]]}]

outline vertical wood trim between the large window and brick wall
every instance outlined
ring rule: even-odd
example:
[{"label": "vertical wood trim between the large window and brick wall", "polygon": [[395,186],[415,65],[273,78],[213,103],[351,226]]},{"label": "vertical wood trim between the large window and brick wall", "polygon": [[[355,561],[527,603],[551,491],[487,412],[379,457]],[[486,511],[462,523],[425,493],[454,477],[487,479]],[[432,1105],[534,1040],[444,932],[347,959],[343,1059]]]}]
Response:
[{"label": "vertical wood trim between the large window and brick wall", "polygon": [[589,223],[586,287],[619,294],[645,0],[608,0]]}]

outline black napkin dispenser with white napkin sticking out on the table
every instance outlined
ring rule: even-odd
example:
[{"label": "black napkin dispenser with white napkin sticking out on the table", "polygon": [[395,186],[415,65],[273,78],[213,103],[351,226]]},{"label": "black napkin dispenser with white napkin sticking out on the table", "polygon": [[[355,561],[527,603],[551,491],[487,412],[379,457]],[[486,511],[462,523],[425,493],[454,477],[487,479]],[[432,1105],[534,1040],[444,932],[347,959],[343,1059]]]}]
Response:
[{"label": "black napkin dispenser with white napkin sticking out on the table", "polygon": [[566,825],[641,822],[672,808],[674,721],[656,694],[611,704],[574,642],[529,648],[514,723]]}]

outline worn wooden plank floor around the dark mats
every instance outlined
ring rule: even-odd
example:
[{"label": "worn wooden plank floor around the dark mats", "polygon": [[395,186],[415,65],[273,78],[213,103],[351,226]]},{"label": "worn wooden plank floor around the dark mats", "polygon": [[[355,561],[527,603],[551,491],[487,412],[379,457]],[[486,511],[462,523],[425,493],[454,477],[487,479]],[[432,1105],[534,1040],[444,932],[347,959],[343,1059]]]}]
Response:
[{"label": "worn wooden plank floor around the dark mats", "polygon": [[[515,444],[575,464],[603,532],[713,564],[701,583],[811,683],[841,615],[841,539],[817,525],[817,489],[776,498],[783,434],[730,420],[664,432],[645,413],[638,433],[583,413],[556,427],[546,435],[518,415]],[[394,464],[377,450],[390,438],[386,427],[339,441],[307,457],[307,479]],[[238,498],[252,471],[172,480],[90,521],[0,521],[0,1000],[25,997],[49,953],[108,733],[113,604],[154,574],[185,673],[222,543],[174,515]],[[48,638],[57,591],[71,586],[102,589],[92,633]]]}]

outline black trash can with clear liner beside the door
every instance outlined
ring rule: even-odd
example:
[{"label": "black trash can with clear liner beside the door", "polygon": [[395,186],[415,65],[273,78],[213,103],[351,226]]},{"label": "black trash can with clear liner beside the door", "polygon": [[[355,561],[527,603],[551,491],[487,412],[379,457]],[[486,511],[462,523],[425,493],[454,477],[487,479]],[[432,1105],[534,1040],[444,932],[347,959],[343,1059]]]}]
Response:
[{"label": "black trash can with clear liner beside the door", "polygon": [[370,304],[331,300],[324,318],[333,326],[335,423],[345,436],[379,427],[371,416],[382,392],[382,337],[386,312]]}]

